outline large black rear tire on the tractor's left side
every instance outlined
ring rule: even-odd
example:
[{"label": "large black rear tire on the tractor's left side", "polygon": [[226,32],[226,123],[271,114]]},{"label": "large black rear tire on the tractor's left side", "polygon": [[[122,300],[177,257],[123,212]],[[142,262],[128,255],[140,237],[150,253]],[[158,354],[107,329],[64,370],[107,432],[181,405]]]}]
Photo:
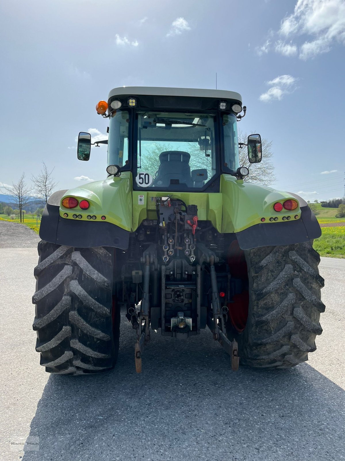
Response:
[{"label": "large black rear tire on the tractor's left side", "polygon": [[[103,247],[40,241],[33,303],[36,351],[46,371],[86,374],[115,366],[120,310],[113,303],[114,256]],[[113,307],[114,305],[114,307]]]}]

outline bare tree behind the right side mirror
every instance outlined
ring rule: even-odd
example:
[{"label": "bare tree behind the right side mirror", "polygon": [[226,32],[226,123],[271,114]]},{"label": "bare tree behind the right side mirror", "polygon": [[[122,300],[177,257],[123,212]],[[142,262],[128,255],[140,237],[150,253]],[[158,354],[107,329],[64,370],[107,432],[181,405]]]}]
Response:
[{"label": "bare tree behind the right side mirror", "polygon": [[[255,133],[255,131],[253,131]],[[247,133],[243,133],[238,130],[238,142],[247,144]],[[269,186],[271,183],[276,181],[274,175],[274,165],[272,162],[273,152],[272,141],[267,139],[261,139],[262,145],[262,160],[260,163],[249,163],[247,155],[247,146],[241,144],[239,146],[240,151],[240,166],[246,166],[249,170],[248,176],[244,178],[244,181],[251,183],[259,183],[263,186]]]}]

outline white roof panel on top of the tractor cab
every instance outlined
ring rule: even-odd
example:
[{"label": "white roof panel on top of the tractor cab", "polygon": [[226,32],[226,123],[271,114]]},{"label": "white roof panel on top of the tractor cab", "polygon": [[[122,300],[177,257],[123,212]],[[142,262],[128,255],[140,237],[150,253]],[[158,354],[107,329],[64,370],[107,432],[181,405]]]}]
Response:
[{"label": "white roof panel on top of the tractor cab", "polygon": [[184,96],[194,98],[217,98],[236,100],[242,103],[242,96],[235,91],[223,89],[167,88],[167,87],[119,87],[109,92],[108,100],[114,96]]}]

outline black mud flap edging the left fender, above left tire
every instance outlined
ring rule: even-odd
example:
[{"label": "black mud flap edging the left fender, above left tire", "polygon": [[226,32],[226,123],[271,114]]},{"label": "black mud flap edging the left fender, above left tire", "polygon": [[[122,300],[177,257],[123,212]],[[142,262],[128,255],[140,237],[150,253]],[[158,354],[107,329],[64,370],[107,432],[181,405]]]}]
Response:
[{"label": "black mud flap edging the left fender, above left tire", "polygon": [[115,224],[61,218],[60,200],[65,192],[55,192],[46,204],[40,224],[42,240],[69,247],[114,247],[127,250],[130,233]]}]

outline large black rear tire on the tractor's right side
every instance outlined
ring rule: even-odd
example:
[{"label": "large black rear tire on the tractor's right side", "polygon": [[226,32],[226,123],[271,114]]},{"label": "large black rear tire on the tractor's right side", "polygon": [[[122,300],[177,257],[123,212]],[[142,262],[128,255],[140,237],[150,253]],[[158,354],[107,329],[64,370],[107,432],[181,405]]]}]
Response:
[{"label": "large black rear tire on the tractor's right side", "polygon": [[248,269],[249,306],[243,332],[230,321],[240,363],[259,368],[290,368],[308,360],[322,333],[320,313],[324,280],[319,254],[311,242],[261,247],[244,252]]}]

